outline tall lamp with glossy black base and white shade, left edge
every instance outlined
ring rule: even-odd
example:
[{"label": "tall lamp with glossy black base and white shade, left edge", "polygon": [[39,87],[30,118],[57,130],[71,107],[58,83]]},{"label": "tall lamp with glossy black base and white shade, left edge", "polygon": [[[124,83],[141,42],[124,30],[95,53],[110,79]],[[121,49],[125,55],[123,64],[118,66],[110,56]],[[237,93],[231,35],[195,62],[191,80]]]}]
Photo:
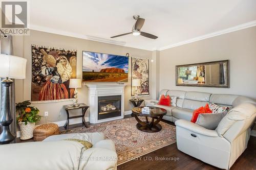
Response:
[{"label": "tall lamp with glossy black base and white shade, left edge", "polygon": [[0,135],[0,144],[7,144],[13,141],[16,137],[10,129],[13,118],[10,108],[10,91],[9,87],[12,84],[12,79],[25,79],[26,78],[26,63],[27,59],[12,55],[0,54],[0,77],[6,78],[1,83],[5,86],[4,105],[0,116],[0,124],[3,126],[3,132]]}]

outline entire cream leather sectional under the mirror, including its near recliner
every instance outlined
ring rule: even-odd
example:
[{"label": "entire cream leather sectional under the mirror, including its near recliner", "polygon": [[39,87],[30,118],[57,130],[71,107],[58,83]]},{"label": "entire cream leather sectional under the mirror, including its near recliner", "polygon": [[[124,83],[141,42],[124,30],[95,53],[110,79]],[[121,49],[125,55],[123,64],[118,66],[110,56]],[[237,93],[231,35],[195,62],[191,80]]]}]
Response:
[{"label": "entire cream leather sectional under the mirror, including its near recliner", "polygon": [[[178,97],[177,107],[156,106],[167,110],[164,119],[175,122],[180,151],[216,167],[229,169],[247,148],[256,117],[254,100],[232,94],[179,90],[162,90],[161,94]],[[215,130],[190,122],[193,110],[207,102],[229,107]]]}]

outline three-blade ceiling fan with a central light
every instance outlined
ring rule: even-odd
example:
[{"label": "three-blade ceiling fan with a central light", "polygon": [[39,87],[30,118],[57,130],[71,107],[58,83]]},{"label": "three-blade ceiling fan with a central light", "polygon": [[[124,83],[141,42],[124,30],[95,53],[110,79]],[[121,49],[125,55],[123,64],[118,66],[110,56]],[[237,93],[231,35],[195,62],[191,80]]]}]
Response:
[{"label": "three-blade ceiling fan with a central light", "polygon": [[120,36],[128,35],[128,34],[132,34],[134,36],[142,35],[144,37],[152,38],[152,39],[157,39],[158,38],[157,36],[155,36],[153,34],[149,34],[149,33],[145,33],[145,32],[140,31],[140,29],[142,28],[142,26],[144,25],[144,22],[145,22],[144,18],[140,18],[139,15],[134,15],[133,18],[136,20],[136,22],[135,22],[135,25],[133,26],[132,32],[116,35],[116,36],[113,36],[113,37],[110,37],[110,38],[116,38],[116,37],[120,37]]}]

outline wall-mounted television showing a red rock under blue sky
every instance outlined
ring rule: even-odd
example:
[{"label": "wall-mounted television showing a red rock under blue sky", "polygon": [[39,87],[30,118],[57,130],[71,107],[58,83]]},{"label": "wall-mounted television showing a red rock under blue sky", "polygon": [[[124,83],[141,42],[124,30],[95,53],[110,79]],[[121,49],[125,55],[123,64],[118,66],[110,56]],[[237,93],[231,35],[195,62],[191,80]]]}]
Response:
[{"label": "wall-mounted television showing a red rock under blue sky", "polygon": [[129,57],[82,52],[82,79],[85,82],[128,82]]}]

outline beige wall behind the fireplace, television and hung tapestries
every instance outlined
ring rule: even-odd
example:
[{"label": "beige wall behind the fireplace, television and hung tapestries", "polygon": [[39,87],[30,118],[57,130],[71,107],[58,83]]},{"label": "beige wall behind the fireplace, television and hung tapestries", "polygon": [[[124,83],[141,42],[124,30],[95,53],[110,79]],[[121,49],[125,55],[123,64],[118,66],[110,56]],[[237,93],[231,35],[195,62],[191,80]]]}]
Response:
[{"label": "beige wall behind the fireplace, television and hung tapestries", "polygon": [[[28,59],[26,79],[16,81],[16,102],[22,102],[24,100],[31,99],[31,44],[77,50],[77,78],[82,78],[83,50],[99,53],[116,54],[122,56],[125,56],[126,53],[129,53],[131,57],[148,58],[150,59],[150,61],[152,58],[151,51],[73,38],[46,32],[39,32],[34,30],[30,31],[30,36],[14,36],[13,41],[14,55],[22,56]],[[152,77],[152,72],[152,62],[150,62],[150,77]],[[152,83],[150,82],[150,85],[151,84]],[[85,85],[82,85],[82,88],[78,89],[78,102],[88,104],[87,90],[87,86]],[[150,94],[154,95],[154,92],[155,91],[152,91],[152,87],[150,87]],[[144,99],[151,99],[151,95],[144,97]],[[131,67],[129,68],[129,82],[125,87],[125,111],[129,111],[132,108],[132,104],[129,102],[129,99],[131,99]],[[72,104],[72,101],[33,104],[33,106],[38,107],[38,109],[40,110],[40,115],[44,115],[45,111],[49,111],[48,122],[56,122],[60,120],[66,120],[66,113],[65,110],[62,109],[62,106],[67,104]],[[42,118],[41,123],[45,123],[44,118]]]}]

